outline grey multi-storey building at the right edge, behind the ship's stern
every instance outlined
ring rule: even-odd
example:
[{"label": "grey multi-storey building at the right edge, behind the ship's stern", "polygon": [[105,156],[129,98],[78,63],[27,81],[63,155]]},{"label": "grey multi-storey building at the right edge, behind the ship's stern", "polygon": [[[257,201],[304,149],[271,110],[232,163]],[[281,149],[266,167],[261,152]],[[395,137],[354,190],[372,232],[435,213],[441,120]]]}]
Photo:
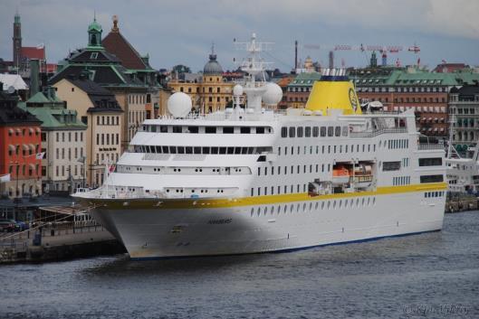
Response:
[{"label": "grey multi-storey building at the right edge, behind the ship's stern", "polygon": [[475,147],[479,139],[479,86],[451,89],[449,116],[453,121],[453,145],[461,155]]}]

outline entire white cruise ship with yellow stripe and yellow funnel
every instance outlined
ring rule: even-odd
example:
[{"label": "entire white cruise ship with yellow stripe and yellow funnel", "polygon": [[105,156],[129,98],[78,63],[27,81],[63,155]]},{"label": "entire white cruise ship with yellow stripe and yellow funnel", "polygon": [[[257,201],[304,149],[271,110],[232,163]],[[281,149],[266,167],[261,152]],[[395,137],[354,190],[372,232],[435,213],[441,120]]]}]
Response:
[{"label": "entire white cruise ship with yellow stripe and yellow funnel", "polygon": [[[324,70],[305,108],[274,111],[264,46],[244,48],[234,107],[146,120],[105,183],[73,196],[134,259],[305,249],[441,230],[444,145],[415,116],[361,109],[344,70]],[[245,107],[242,105],[245,102]]]}]

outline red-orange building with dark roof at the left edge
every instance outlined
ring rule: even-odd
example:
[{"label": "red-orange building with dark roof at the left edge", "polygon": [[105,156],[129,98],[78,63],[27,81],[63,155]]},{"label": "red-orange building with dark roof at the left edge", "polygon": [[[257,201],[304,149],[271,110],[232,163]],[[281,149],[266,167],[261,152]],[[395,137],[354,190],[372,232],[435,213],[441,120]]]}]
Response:
[{"label": "red-orange building with dark roof at the left edge", "polygon": [[9,197],[42,192],[42,124],[17,107],[16,97],[0,91],[0,193]]}]

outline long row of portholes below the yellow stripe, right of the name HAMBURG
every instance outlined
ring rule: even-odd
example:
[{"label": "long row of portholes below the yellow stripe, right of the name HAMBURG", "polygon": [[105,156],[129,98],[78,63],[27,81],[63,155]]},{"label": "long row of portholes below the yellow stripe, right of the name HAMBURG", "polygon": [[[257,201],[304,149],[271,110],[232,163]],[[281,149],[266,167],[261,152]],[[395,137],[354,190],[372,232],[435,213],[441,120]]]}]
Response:
[{"label": "long row of portholes below the yellow stripe, right of the name HAMBURG", "polygon": [[[332,202],[332,204],[331,204]],[[348,204],[349,202],[349,204]],[[365,207],[365,206],[372,206],[372,205],[375,205],[376,204],[376,197],[373,197],[372,199],[369,197],[367,200],[366,198],[363,198],[362,201],[359,201],[359,198],[356,199],[356,207]],[[343,200],[340,200],[340,201],[328,201],[327,203],[326,202],[321,202],[321,210],[323,209],[340,209],[341,207],[344,207],[344,208],[347,208],[349,205],[350,208],[352,208],[352,206],[354,205],[354,199],[350,199],[350,200],[344,200],[344,205],[343,205]],[[331,207],[332,206],[332,207]],[[310,202],[310,205],[309,205],[309,211],[312,211],[312,202]],[[316,202],[314,204],[314,209],[315,210],[318,210],[320,207],[320,203],[319,202]],[[301,204],[296,204],[296,211],[299,212],[300,211],[300,208],[301,208]],[[307,204],[304,202],[302,204],[302,211],[306,211],[307,209]],[[292,213],[294,210],[294,204],[290,204],[290,213]],[[261,215],[261,211],[262,211],[262,208],[261,207],[258,207],[256,208],[256,215],[257,216],[260,216]],[[273,215],[274,213],[274,206],[271,206],[270,209],[270,214]],[[278,205],[276,206],[276,213],[279,215],[282,211],[282,205]],[[284,205],[283,206],[283,213],[286,213],[288,211],[288,205]],[[268,212],[268,207],[267,206],[264,206],[263,207],[263,215],[266,216]],[[250,215],[251,217],[254,216],[254,207],[251,208],[251,211],[250,211]]]}]

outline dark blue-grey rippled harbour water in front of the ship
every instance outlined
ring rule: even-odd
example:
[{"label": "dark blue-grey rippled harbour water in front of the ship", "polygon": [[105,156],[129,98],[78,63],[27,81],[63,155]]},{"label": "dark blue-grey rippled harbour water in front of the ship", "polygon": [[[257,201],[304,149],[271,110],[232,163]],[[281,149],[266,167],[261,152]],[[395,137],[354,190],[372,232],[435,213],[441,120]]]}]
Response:
[{"label": "dark blue-grey rippled harbour water in front of the ship", "polygon": [[289,253],[0,267],[0,318],[479,317],[479,211],[444,230]]}]

